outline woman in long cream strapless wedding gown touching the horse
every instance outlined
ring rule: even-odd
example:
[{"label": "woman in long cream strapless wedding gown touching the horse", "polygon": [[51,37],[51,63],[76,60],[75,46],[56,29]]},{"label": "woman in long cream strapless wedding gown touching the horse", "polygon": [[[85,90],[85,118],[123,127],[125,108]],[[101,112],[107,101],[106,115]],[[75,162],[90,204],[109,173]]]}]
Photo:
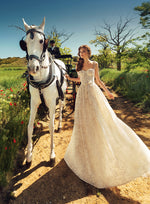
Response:
[{"label": "woman in long cream strapless wedding gown touching the horse", "polygon": [[[136,133],[120,120],[100,86],[114,98],[99,78],[98,63],[90,61],[91,50],[79,47],[78,89],[73,134],[65,154],[72,171],[85,182],[107,188],[125,184],[150,173],[150,151]],[[94,82],[96,79],[96,83]]]}]

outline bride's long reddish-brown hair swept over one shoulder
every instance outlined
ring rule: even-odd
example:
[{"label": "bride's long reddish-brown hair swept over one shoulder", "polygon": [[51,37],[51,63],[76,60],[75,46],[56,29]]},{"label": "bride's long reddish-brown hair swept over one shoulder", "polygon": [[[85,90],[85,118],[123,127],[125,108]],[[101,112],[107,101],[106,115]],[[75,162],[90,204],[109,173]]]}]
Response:
[{"label": "bride's long reddish-brown hair swept over one shoulder", "polygon": [[81,46],[78,48],[79,60],[78,60],[78,64],[77,64],[77,71],[80,71],[80,70],[82,70],[82,68],[83,68],[84,59],[80,57],[80,50],[81,50],[82,48],[83,48],[83,49],[86,49],[87,52],[88,52],[89,58],[91,57],[91,48],[90,48],[88,45],[81,45]]}]

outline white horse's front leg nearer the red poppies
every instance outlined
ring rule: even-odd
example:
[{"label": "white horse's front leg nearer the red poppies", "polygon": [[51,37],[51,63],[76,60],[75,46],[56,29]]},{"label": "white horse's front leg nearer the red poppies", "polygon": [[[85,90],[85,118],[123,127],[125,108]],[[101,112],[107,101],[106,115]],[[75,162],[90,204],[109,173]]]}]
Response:
[{"label": "white horse's front leg nearer the red poppies", "polygon": [[33,134],[33,125],[39,104],[31,100],[31,110],[30,110],[30,119],[28,124],[28,145],[27,145],[27,165],[30,166],[32,161],[32,134]]}]

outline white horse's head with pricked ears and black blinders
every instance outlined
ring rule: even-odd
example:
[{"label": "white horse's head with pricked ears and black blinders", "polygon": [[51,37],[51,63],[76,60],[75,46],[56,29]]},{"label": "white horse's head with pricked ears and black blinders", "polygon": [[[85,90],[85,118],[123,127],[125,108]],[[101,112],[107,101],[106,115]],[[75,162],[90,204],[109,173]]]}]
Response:
[{"label": "white horse's head with pricked ears and black blinders", "polygon": [[29,26],[23,19],[26,30],[26,39],[20,41],[20,47],[27,52],[29,74],[35,75],[44,60],[48,40],[44,35],[45,18],[40,26]]}]

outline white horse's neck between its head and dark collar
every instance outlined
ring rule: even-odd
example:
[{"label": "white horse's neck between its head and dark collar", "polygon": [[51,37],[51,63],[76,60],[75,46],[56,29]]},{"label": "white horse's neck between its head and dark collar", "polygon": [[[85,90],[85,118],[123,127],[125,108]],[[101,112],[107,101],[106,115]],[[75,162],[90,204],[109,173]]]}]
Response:
[{"label": "white horse's neck between its head and dark collar", "polygon": [[45,58],[41,64],[41,68],[36,76],[34,76],[34,80],[37,82],[45,82],[49,77],[49,55],[48,52],[45,52]]}]

